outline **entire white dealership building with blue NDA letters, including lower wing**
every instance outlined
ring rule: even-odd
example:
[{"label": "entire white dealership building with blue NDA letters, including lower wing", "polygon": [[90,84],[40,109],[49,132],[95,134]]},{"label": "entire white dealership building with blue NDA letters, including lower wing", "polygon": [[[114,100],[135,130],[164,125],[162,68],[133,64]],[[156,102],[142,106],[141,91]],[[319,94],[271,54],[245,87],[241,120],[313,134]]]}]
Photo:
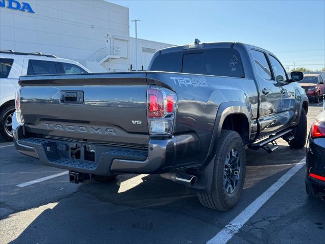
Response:
[{"label": "entire white dealership building with blue NDA letters, including lower wing", "polygon": [[[73,59],[92,72],[136,69],[129,27],[129,9],[104,0],[0,0],[0,50]],[[138,39],[138,70],[170,46]]]}]

